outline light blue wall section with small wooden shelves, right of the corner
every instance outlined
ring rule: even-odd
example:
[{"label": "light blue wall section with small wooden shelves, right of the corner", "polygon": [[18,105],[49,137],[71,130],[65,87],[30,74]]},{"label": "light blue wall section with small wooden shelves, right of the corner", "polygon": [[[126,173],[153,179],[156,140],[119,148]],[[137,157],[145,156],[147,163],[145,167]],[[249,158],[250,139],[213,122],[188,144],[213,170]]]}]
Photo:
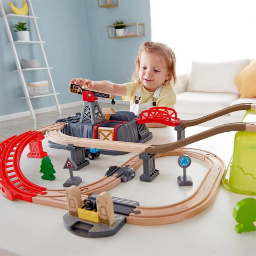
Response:
[{"label": "light blue wall section with small wooden shelves, right of the corner", "polygon": [[[109,9],[99,8],[97,1],[89,2],[86,10],[94,77],[116,83],[130,81],[139,47],[151,38],[149,0],[121,0],[118,7]],[[146,37],[108,38],[107,26],[116,20],[145,23]]]}]

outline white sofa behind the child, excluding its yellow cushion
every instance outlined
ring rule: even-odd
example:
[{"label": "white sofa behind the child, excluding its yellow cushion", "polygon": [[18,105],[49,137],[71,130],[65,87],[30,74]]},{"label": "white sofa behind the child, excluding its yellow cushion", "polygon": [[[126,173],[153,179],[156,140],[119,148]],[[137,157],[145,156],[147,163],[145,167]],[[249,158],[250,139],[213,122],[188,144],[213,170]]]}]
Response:
[{"label": "white sofa behind the child, excluding its yellow cushion", "polygon": [[[240,98],[235,77],[250,63],[249,59],[229,62],[193,62],[191,73],[178,75],[174,108],[182,120],[195,119],[239,103],[256,103],[256,98]],[[256,86],[256,85],[255,85]],[[201,125],[241,122],[245,111],[236,111]]]}]

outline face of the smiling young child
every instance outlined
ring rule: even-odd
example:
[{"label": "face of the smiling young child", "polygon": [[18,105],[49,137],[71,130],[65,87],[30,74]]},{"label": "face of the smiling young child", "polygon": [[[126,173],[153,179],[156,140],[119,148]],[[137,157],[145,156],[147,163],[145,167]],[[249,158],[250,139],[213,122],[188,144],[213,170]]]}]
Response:
[{"label": "face of the smiling young child", "polygon": [[167,70],[164,57],[157,53],[142,51],[139,79],[148,91],[154,92],[170,77],[171,73]]}]

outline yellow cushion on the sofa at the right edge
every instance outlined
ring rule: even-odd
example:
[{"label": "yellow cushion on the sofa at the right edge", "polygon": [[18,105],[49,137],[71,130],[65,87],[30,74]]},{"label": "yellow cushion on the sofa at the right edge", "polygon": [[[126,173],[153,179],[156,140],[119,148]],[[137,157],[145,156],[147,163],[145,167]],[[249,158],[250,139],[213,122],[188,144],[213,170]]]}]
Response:
[{"label": "yellow cushion on the sofa at the right edge", "polygon": [[236,76],[235,84],[241,98],[256,98],[256,60]]}]

